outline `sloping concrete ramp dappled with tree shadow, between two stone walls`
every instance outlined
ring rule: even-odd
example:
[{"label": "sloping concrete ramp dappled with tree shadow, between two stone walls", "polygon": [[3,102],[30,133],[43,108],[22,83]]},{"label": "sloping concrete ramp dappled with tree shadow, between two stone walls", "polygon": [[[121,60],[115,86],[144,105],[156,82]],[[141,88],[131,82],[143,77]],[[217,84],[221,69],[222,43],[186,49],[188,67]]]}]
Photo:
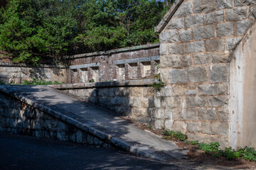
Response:
[{"label": "sloping concrete ramp dappled with tree shadow, between two stone walls", "polygon": [[[149,152],[149,154],[144,154],[144,156],[148,156],[151,154],[150,152],[152,152],[151,149],[155,149],[164,152],[163,157],[165,157],[165,159],[186,158],[188,151],[179,148],[174,142],[162,140],[161,137],[149,131],[142,130],[136,125],[116,115],[112,115],[102,108],[79,101],[76,98],[62,94],[48,86],[8,86],[8,89],[11,91],[19,91],[19,93],[23,92],[23,94],[26,94],[26,97],[31,98],[37,103],[43,103],[48,106],[55,106],[56,108],[70,111],[82,118],[81,121],[90,120],[96,125],[119,132],[124,135],[124,137],[142,144],[138,147],[133,147],[133,153],[136,153],[136,150],[143,150],[144,152]],[[166,158],[166,155],[169,155],[169,157]],[[161,155],[158,154],[155,158],[161,160]]]}]

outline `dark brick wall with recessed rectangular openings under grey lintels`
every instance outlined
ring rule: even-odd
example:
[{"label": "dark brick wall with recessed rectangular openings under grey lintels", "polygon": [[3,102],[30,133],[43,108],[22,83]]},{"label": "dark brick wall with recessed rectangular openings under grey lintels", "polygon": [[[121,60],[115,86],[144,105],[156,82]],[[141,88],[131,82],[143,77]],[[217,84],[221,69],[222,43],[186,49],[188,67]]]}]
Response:
[{"label": "dark brick wall with recessed rectangular openings under grey lintels", "polygon": [[69,83],[142,79],[156,73],[154,64],[159,62],[159,44],[93,52],[68,57]]}]

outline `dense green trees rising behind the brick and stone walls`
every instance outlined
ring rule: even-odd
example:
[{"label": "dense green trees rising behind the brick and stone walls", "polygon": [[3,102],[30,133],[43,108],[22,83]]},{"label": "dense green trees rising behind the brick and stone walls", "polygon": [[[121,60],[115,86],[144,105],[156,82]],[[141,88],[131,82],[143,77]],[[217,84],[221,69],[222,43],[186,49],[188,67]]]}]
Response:
[{"label": "dense green trees rising behind the brick and stone walls", "polygon": [[159,0],[10,0],[0,11],[0,50],[14,62],[158,42],[154,27],[171,5]]}]

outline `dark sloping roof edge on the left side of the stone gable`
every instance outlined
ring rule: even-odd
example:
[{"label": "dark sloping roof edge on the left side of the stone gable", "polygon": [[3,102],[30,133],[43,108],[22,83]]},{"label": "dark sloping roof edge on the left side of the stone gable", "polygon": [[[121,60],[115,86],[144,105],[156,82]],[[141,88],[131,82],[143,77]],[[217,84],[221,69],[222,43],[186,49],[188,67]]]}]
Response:
[{"label": "dark sloping roof edge on the left side of the stone gable", "polygon": [[155,33],[161,33],[162,30],[166,27],[169,23],[171,18],[174,16],[174,13],[178,10],[178,7],[181,6],[184,0],[176,0],[174,4],[172,4],[171,8],[167,13],[164,15],[164,18],[160,21],[159,25],[154,28]]}]

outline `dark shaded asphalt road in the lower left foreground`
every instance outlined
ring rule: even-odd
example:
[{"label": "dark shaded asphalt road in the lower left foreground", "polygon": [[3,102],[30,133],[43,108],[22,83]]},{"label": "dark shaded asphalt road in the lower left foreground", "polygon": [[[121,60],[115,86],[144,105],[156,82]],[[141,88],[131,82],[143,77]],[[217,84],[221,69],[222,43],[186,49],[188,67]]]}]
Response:
[{"label": "dark shaded asphalt road in the lower left foreground", "polygon": [[185,169],[134,157],[117,149],[0,132],[0,169]]}]

